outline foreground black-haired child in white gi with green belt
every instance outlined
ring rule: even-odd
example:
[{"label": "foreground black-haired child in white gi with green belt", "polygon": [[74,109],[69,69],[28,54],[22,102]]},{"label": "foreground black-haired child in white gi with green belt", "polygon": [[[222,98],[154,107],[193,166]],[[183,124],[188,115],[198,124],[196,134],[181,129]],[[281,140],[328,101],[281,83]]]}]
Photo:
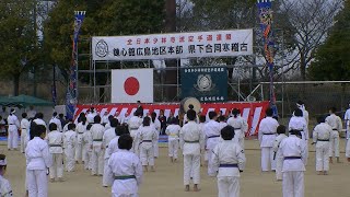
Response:
[{"label": "foreground black-haired child in white gi with green belt", "polygon": [[132,138],[129,135],[120,136],[119,151],[112,154],[107,171],[113,197],[138,197],[138,189],[142,181],[142,165],[139,158],[130,151]]}]

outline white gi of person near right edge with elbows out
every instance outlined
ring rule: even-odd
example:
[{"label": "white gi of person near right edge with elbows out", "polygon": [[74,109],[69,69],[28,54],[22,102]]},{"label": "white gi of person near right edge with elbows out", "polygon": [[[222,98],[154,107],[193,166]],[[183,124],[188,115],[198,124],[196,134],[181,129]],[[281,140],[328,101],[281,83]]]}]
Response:
[{"label": "white gi of person near right edge with elbows out", "polygon": [[339,158],[339,131],[342,129],[342,123],[339,116],[330,114],[326,118],[326,123],[331,127],[331,136],[329,140],[329,157]]}]

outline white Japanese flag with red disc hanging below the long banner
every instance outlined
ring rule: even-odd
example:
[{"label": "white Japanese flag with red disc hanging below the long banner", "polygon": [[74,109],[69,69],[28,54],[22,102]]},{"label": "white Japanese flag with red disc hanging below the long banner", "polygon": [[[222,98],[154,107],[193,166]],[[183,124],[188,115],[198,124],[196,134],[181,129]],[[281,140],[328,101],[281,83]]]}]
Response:
[{"label": "white Japanese flag with red disc hanging below the long banner", "polygon": [[153,69],[112,71],[112,103],[153,103]]}]

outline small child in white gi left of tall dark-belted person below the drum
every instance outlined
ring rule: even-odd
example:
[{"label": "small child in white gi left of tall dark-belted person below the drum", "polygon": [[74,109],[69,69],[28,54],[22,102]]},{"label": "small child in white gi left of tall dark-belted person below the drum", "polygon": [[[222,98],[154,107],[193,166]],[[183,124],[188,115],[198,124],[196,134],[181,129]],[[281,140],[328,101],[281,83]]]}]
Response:
[{"label": "small child in white gi left of tall dark-belted person below the drum", "polygon": [[177,119],[173,117],[171,119],[171,125],[166,127],[165,134],[167,137],[167,147],[168,147],[168,157],[171,158],[171,162],[176,162],[177,160],[177,150],[178,150],[178,136],[182,127],[177,125]]}]

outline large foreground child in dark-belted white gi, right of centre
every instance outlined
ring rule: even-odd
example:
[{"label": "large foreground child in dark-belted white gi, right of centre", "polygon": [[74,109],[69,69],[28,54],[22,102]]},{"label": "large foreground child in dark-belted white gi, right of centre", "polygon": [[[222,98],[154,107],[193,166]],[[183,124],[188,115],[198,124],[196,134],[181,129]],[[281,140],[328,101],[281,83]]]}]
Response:
[{"label": "large foreground child in dark-belted white gi, right of centre", "polygon": [[220,142],[213,150],[212,163],[218,172],[219,197],[240,197],[240,172],[245,166],[245,154],[241,146],[234,142],[234,128],[221,129]]}]

